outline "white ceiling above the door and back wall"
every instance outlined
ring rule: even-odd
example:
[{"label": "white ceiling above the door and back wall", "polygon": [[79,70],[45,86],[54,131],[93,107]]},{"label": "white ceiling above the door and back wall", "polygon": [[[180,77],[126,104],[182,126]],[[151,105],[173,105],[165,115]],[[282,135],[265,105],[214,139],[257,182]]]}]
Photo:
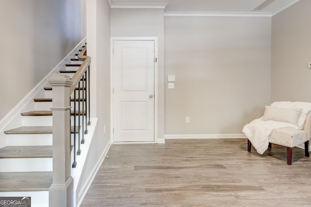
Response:
[{"label": "white ceiling above the door and back wall", "polygon": [[109,0],[111,8],[164,8],[165,13],[247,13],[273,16],[299,0]]}]

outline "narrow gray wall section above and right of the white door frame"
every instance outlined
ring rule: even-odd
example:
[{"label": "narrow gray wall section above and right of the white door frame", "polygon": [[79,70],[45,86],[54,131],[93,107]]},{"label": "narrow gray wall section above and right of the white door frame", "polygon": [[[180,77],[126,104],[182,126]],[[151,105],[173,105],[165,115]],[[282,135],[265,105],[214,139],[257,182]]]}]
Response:
[{"label": "narrow gray wall section above and right of the white door frame", "polygon": [[111,9],[111,36],[158,38],[158,139],[164,134],[164,11],[163,9]]}]

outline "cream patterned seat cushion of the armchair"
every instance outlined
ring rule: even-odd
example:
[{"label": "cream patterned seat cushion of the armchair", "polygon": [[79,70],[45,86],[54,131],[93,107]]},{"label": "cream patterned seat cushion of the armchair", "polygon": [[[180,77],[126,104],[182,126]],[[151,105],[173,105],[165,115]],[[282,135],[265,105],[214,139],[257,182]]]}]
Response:
[{"label": "cream patterned seat cushion of the armchair", "polygon": [[269,143],[294,147],[309,140],[308,133],[295,128],[277,128],[269,136]]}]

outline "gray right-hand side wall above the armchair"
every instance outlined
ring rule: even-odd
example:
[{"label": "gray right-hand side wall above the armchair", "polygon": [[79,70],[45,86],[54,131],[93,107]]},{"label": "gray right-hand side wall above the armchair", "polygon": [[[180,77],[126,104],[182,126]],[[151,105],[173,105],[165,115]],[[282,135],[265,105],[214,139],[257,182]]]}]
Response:
[{"label": "gray right-hand side wall above the armchair", "polygon": [[272,101],[311,101],[311,1],[272,17]]}]

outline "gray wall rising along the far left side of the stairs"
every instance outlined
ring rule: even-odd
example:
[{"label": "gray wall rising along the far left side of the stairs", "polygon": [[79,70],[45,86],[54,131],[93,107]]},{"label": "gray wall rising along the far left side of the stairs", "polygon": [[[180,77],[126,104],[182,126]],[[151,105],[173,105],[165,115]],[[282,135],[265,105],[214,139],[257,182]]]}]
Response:
[{"label": "gray wall rising along the far left side of the stairs", "polygon": [[0,0],[0,119],[85,37],[84,1]]}]

